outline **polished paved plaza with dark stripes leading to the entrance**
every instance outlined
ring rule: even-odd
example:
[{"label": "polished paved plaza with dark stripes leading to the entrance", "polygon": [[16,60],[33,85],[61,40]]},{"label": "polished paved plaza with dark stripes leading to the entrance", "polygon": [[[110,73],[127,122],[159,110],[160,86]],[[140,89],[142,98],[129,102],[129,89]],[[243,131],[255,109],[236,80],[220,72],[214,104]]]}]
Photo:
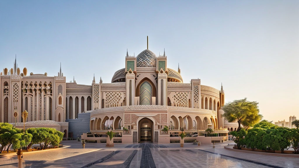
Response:
[{"label": "polished paved plaza with dark stripes leading to the entrance", "polygon": [[[233,142],[230,142],[233,143]],[[63,149],[24,153],[23,167],[299,167],[298,158],[257,155],[224,149],[225,144],[115,144],[62,141]],[[16,155],[0,158],[0,167],[17,167]]]}]

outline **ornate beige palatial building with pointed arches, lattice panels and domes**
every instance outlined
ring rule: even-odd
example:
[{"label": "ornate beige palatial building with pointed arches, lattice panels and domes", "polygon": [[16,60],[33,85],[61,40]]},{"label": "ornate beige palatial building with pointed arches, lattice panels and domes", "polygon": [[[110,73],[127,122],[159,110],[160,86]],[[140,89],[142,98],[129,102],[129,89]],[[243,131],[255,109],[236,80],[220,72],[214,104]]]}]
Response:
[{"label": "ornate beige palatial building with pointed arches, lattice panels and domes", "polygon": [[[146,49],[137,57],[127,52],[124,67],[115,72],[111,83],[94,79],[91,85],[79,85],[66,83],[61,68],[54,77],[27,75],[26,68],[20,73],[15,61],[14,68],[1,73],[0,120],[22,122],[20,114],[27,110],[28,122],[54,120],[65,128],[66,120],[90,113],[92,137],[87,139],[98,142],[108,129],[122,143],[170,143],[182,130],[194,139],[208,128],[227,136],[222,86],[218,90],[201,85],[200,79],[183,83],[180,68],[167,67],[165,51],[156,56]],[[167,132],[162,131],[164,126],[169,127]],[[67,137],[68,130],[62,131]]]}]

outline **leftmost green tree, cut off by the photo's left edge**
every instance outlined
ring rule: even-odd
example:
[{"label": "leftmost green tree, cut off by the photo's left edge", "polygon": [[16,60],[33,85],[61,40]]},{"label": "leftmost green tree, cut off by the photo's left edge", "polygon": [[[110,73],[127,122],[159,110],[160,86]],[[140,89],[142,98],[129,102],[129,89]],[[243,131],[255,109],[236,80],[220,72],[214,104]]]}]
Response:
[{"label": "leftmost green tree, cut off by the photo's left edge", "polygon": [[7,145],[8,145],[8,147],[7,147],[7,152],[8,152],[8,149],[9,149],[10,145],[12,144],[11,137],[14,134],[17,134],[20,132],[21,132],[20,129],[14,128],[13,125],[11,125],[9,123],[0,123],[0,144],[1,144],[0,153],[2,153],[4,147]]}]

